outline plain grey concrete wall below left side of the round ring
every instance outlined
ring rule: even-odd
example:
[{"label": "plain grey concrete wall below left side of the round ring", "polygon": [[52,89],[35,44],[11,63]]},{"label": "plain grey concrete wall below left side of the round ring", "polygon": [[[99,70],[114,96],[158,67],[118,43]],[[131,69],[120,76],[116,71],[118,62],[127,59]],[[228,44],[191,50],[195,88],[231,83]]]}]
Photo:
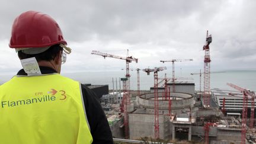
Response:
[{"label": "plain grey concrete wall below left side of the round ring", "polygon": [[[159,115],[159,137],[164,139],[165,133],[164,115]],[[168,129],[168,127],[167,127]],[[153,114],[129,114],[130,139],[140,139],[140,137],[155,137],[154,115]]]}]

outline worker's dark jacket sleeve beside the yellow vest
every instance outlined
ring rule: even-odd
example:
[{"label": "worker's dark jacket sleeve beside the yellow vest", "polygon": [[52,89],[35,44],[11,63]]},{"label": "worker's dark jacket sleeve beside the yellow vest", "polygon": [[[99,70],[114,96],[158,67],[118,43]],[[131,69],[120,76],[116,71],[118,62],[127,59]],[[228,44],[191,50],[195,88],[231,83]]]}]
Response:
[{"label": "worker's dark jacket sleeve beside the yellow vest", "polygon": [[92,143],[113,143],[113,137],[103,108],[94,92],[81,84],[85,111],[93,138]]}]

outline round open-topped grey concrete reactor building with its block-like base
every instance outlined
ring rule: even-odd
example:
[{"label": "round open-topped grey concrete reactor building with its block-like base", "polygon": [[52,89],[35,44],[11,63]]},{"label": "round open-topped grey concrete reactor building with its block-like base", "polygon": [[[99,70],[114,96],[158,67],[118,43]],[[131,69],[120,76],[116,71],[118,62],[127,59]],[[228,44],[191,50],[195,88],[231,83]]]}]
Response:
[{"label": "round open-topped grey concrete reactor building with its block-like base", "polygon": [[[159,92],[158,95],[162,95],[162,92]],[[172,134],[172,121],[168,108],[169,102],[163,100],[162,97],[158,97],[159,100],[159,137],[161,139],[169,139]],[[194,97],[190,94],[183,93],[171,93],[172,100],[172,113],[175,114],[184,114],[193,108]],[[140,137],[154,137],[154,94],[143,94],[139,97],[139,104],[142,108],[137,109],[133,113],[129,114],[129,130],[130,130],[130,139],[137,139]],[[187,110],[187,111],[185,111]],[[184,117],[183,117],[184,118]],[[189,114],[182,120],[180,123],[187,123],[190,121]],[[177,125],[175,125],[177,127]],[[174,126],[174,129],[175,129]],[[182,126],[178,126],[182,127]],[[189,129],[191,133],[191,128]],[[191,135],[190,135],[191,140]]]}]

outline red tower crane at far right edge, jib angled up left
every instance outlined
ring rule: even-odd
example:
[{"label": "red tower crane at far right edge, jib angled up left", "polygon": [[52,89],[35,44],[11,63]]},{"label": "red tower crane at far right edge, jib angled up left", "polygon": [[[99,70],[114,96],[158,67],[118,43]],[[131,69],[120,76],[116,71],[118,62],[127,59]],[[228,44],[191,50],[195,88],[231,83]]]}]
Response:
[{"label": "red tower crane at far right edge, jib angled up left", "polygon": [[255,99],[255,92],[249,91],[248,89],[241,88],[237,85],[228,83],[232,88],[235,88],[236,90],[242,92],[243,95],[243,110],[242,110],[242,136],[241,136],[241,142],[242,144],[245,144],[246,139],[246,132],[247,132],[247,106],[248,106],[248,98],[251,98],[251,119],[249,127],[254,127],[254,99]]}]

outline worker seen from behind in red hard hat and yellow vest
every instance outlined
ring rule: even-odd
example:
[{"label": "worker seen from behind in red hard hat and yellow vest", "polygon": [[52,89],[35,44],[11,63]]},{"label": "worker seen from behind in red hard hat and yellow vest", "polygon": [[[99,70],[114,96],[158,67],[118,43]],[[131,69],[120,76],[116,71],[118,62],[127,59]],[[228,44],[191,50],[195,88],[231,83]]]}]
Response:
[{"label": "worker seen from behind in red hard hat and yellow vest", "polygon": [[113,143],[94,92],[60,75],[71,48],[52,17],[19,15],[9,47],[23,69],[0,86],[0,143]]}]

